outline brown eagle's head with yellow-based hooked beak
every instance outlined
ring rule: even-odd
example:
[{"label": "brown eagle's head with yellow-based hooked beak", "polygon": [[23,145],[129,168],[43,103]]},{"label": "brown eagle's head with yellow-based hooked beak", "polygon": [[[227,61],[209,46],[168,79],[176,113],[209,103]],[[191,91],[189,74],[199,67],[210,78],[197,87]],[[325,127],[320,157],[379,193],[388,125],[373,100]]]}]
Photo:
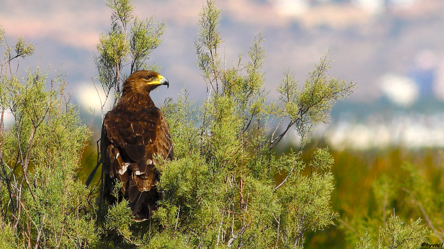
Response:
[{"label": "brown eagle's head with yellow-based hooked beak", "polygon": [[127,92],[149,93],[160,85],[169,87],[170,82],[154,71],[139,70],[135,71],[123,82],[122,92],[123,94]]}]

